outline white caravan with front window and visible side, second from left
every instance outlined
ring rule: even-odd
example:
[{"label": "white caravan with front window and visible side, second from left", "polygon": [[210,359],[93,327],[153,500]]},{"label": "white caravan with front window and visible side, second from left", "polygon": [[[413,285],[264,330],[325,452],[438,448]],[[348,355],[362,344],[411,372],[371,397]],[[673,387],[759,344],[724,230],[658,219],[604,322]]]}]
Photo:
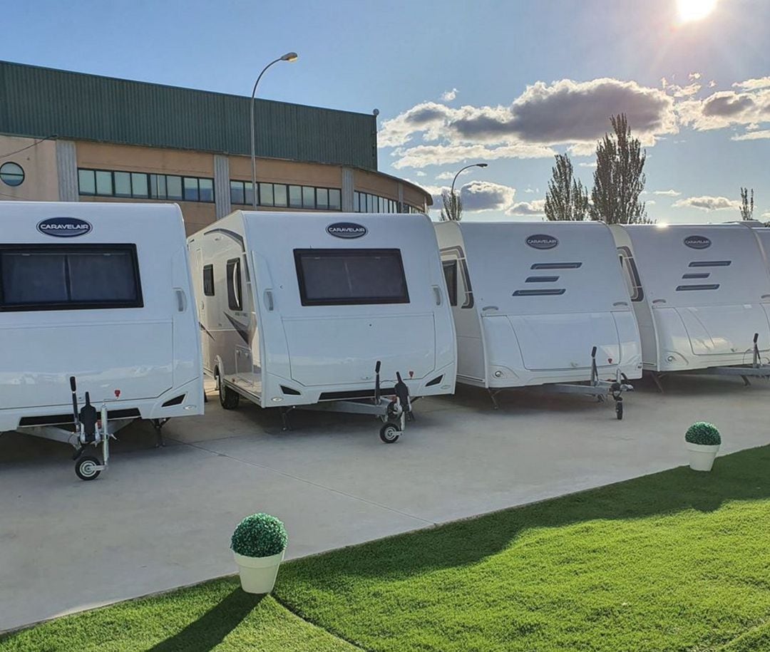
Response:
[{"label": "white caravan with front window and visible side, second from left", "polygon": [[[454,392],[454,326],[427,216],[236,211],[188,246],[203,367],[225,408],[239,396],[282,408],[284,428],[296,406],[371,413],[390,443],[410,415],[407,388]],[[395,402],[380,396],[398,388]]]}]

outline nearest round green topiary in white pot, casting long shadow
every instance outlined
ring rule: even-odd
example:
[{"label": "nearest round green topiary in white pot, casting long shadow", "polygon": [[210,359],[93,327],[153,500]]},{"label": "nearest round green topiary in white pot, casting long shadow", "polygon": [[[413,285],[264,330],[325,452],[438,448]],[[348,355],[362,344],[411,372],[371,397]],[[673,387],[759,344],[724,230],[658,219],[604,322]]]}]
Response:
[{"label": "nearest round green topiary in white pot, casting long shadow", "polygon": [[238,523],[230,548],[246,593],[273,590],[288,538],[283,523],[269,514],[252,514]]}]

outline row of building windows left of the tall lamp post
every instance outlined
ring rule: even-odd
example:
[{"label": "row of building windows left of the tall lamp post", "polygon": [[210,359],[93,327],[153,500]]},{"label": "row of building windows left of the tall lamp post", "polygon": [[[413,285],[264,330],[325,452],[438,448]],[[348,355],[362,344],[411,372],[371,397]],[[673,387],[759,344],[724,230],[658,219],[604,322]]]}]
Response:
[{"label": "row of building windows left of the tall lamp post", "polygon": [[81,195],[173,201],[214,201],[214,179],[110,170],[78,170]]}]

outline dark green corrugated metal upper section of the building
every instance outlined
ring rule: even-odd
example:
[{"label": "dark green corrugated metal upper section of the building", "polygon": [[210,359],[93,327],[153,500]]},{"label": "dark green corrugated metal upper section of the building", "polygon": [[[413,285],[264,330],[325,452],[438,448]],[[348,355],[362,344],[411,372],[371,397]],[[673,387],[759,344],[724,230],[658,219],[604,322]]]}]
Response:
[{"label": "dark green corrugated metal upper section of the building", "polygon": [[[248,97],[0,62],[0,133],[246,154]],[[377,169],[373,115],[257,99],[256,154]]]}]

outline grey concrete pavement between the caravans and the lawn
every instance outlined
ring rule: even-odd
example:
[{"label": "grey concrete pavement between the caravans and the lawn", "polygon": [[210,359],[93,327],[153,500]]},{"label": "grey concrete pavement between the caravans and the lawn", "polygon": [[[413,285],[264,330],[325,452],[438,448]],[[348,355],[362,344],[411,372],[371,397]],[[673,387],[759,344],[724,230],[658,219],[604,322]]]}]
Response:
[{"label": "grey concrete pavement between the caravans and the lawn", "polygon": [[770,443],[770,386],[735,379],[641,383],[623,421],[574,396],[460,388],[422,400],[385,445],[370,417],[276,413],[241,403],[170,422],[165,448],[130,426],[109,470],[78,480],[69,448],[0,436],[0,630],[235,572],[229,536],[246,514],[280,517],[287,557],[654,473],[687,461],[684,432],[716,423],[721,453]]}]

